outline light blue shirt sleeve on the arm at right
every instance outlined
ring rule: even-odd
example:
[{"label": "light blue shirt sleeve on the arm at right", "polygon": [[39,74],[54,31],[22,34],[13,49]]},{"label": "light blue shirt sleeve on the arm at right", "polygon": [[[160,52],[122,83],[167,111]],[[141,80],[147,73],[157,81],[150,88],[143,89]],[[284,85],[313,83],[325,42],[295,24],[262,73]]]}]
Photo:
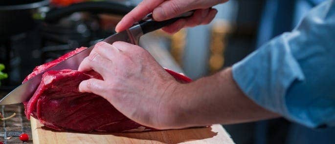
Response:
[{"label": "light blue shirt sleeve on the arm at right", "polygon": [[232,72],[246,96],[268,110],[309,127],[335,126],[335,1],[313,8]]}]

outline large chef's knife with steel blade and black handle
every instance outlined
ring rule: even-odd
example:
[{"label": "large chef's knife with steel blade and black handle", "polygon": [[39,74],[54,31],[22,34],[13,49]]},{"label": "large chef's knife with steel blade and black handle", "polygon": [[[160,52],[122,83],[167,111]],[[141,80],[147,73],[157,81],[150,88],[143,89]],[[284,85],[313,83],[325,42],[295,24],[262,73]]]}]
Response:
[{"label": "large chef's knife with steel blade and black handle", "polygon": [[[128,30],[122,31],[120,33],[116,33],[102,41],[112,44],[115,41],[125,41],[133,44],[138,44],[139,38],[146,33],[155,31],[160,29],[164,26],[172,24],[179,19],[190,17],[193,15],[193,11],[186,12],[180,15],[177,18],[173,18],[166,21],[155,21],[152,18],[152,15],[147,15],[142,21],[135,24]],[[34,94],[35,90],[41,83],[42,75],[49,70],[62,70],[62,69],[72,69],[77,70],[79,64],[89,56],[89,53],[93,49],[94,46],[90,46],[89,48],[77,53],[76,55],[68,58],[67,60],[60,62],[53,67],[46,69],[45,71],[39,73],[35,77],[31,78],[29,81],[24,82],[9,94],[7,94],[1,101],[0,105],[7,105],[7,104],[14,104],[14,103],[22,103],[28,101],[32,95]]]}]

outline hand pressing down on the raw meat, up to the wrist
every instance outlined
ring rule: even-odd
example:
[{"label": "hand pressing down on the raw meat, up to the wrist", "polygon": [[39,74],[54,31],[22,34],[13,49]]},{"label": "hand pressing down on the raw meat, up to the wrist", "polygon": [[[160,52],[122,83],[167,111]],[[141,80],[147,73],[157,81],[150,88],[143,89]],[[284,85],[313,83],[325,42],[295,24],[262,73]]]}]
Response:
[{"label": "hand pressing down on the raw meat, up to the wrist", "polygon": [[126,42],[112,45],[99,42],[80,64],[78,71],[94,70],[103,80],[89,79],[79,85],[80,92],[97,94],[137,123],[169,128],[169,96],[178,86],[143,48]]}]

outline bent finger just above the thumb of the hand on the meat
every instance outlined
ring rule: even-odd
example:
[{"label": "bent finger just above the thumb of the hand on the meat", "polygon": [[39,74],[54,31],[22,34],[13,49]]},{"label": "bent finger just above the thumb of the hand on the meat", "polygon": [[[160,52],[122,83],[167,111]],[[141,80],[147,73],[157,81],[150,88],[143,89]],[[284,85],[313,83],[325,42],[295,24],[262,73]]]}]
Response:
[{"label": "bent finger just above the thumb of the hand on the meat", "polygon": [[78,71],[89,71],[92,69],[102,75],[102,77],[105,77],[112,69],[112,61],[92,51],[91,54],[80,63]]}]

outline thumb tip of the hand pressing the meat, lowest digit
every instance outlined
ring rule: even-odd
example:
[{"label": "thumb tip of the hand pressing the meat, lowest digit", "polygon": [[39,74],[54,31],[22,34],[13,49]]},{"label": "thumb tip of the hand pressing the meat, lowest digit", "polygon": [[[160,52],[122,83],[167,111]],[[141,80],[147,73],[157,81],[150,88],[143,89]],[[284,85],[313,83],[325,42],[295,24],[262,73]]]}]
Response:
[{"label": "thumb tip of the hand pressing the meat, lowest digit", "polygon": [[103,95],[106,86],[104,86],[104,81],[98,79],[89,79],[80,82],[78,89],[79,92],[89,92],[97,95]]}]

